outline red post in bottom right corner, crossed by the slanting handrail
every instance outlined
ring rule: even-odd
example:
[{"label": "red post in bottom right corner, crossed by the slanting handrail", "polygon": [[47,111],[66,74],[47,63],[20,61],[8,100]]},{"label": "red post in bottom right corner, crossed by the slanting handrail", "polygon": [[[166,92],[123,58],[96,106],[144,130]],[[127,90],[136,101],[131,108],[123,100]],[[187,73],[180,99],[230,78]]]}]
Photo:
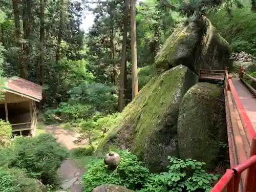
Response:
[{"label": "red post in bottom right corner, crossed by the slanting handrail", "polygon": [[[251,149],[250,149],[250,157],[253,155],[256,155],[256,134],[252,137],[251,141]],[[244,191],[249,191],[252,192],[255,190],[255,168],[256,165],[250,166],[247,170],[247,175],[246,175],[246,180],[245,180],[245,186],[244,186]],[[254,187],[253,187],[254,186]]]}]

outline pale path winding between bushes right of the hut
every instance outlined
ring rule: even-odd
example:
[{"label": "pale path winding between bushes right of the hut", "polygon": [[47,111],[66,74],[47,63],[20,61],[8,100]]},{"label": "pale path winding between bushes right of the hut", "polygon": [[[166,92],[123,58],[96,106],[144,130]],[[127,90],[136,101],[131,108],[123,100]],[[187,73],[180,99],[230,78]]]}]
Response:
[{"label": "pale path winding between bushes right of the hut", "polygon": [[[47,126],[46,132],[55,135],[58,138],[57,141],[65,144],[68,150],[78,147],[73,143],[79,136],[75,132],[63,130],[62,127],[56,125]],[[84,169],[78,168],[74,161],[68,158],[61,164],[58,172],[62,177],[61,188],[63,190],[70,189],[70,192],[82,192],[81,177]]]}]

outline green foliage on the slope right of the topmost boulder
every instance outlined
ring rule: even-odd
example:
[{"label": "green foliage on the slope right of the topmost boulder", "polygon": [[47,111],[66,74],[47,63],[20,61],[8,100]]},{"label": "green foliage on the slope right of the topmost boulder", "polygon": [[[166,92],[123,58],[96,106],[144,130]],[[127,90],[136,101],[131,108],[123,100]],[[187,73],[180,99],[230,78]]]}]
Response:
[{"label": "green foliage on the slope right of the topmost boulder", "polygon": [[245,51],[256,55],[255,12],[250,10],[250,2],[244,1],[244,8],[233,7],[231,14],[225,8],[210,15],[210,21],[225,38],[234,52]]}]

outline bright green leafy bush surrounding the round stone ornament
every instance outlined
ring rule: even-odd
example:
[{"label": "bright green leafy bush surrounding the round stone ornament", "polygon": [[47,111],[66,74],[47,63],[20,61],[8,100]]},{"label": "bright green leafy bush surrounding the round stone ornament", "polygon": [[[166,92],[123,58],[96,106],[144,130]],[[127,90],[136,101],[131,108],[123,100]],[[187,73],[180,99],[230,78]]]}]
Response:
[{"label": "bright green leafy bush surrounding the round stone ornament", "polygon": [[83,175],[84,192],[91,192],[101,184],[123,185],[130,189],[140,189],[148,179],[150,172],[144,167],[143,162],[128,151],[119,151],[121,161],[113,172],[108,170],[102,159],[96,159],[87,166]]}]

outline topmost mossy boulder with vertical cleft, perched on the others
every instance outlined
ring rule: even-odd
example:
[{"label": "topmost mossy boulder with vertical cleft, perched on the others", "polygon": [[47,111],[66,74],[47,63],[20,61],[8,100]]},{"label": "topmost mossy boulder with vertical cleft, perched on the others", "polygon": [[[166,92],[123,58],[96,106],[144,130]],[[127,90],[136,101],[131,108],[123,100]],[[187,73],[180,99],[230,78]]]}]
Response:
[{"label": "topmost mossy boulder with vertical cleft, perched on the others", "polygon": [[156,57],[156,68],[164,70],[177,65],[191,71],[223,70],[229,65],[230,47],[209,19],[202,17],[178,27],[165,41]]}]

